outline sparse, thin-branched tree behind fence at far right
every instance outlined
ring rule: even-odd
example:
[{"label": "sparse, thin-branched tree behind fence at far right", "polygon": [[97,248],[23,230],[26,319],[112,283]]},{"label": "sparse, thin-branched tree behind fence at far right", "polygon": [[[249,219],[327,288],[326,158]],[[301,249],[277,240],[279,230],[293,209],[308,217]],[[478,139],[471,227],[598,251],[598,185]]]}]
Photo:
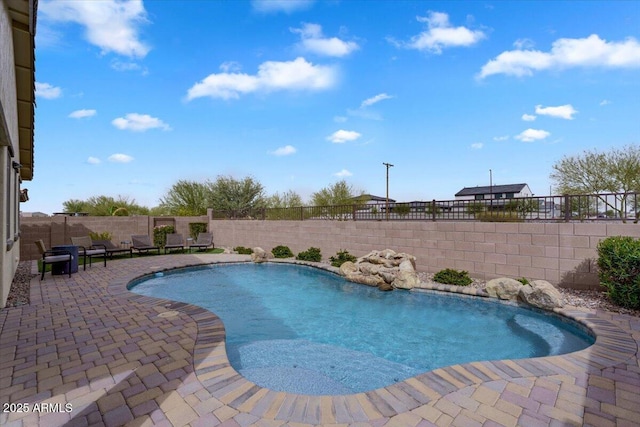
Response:
[{"label": "sparse, thin-branched tree behind fence at far right", "polygon": [[[597,194],[605,208],[626,217],[628,202],[640,192],[640,146],[628,145],[601,153],[584,151],[553,165],[551,179],[563,194]],[[615,203],[603,193],[617,193]],[[630,198],[631,196],[631,198]],[[637,196],[635,196],[637,197]],[[634,201],[631,207],[635,209]],[[636,217],[637,217],[636,213]]]}]

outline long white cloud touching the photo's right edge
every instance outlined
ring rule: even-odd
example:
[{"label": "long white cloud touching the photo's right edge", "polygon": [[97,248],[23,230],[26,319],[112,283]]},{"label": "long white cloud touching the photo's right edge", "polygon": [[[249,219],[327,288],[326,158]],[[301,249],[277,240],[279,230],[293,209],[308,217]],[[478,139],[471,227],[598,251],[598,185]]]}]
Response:
[{"label": "long white cloud touching the photo's right edge", "polygon": [[582,39],[558,39],[549,52],[521,49],[502,52],[482,66],[478,77],[531,76],[534,71],[571,67],[638,68],[640,43],[633,37],[608,42],[596,34]]}]

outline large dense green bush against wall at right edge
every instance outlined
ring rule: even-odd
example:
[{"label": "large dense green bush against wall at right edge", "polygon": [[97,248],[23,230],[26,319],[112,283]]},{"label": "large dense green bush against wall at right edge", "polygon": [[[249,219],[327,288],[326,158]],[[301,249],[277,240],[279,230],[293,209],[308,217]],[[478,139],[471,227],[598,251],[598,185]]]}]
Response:
[{"label": "large dense green bush against wall at right edge", "polygon": [[598,243],[600,284],[621,307],[640,309],[640,239],[607,237]]}]

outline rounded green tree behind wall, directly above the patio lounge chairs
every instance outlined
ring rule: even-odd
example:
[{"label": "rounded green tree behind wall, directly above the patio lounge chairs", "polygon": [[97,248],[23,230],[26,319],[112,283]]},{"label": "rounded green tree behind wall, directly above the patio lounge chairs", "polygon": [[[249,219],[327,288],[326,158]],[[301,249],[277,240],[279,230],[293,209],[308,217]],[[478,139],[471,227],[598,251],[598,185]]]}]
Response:
[{"label": "rounded green tree behind wall, directly above the patio lounge chairs", "polygon": [[179,180],[160,199],[162,210],[168,215],[198,216],[207,214],[211,189],[205,183]]}]

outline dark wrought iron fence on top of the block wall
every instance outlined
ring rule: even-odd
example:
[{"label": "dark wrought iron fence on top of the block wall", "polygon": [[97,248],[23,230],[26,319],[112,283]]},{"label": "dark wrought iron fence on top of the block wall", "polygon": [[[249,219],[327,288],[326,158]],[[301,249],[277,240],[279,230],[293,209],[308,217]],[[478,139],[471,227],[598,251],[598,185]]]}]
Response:
[{"label": "dark wrought iron fence on top of the block wall", "polygon": [[607,193],[406,203],[353,203],[212,211],[212,219],[332,221],[633,221],[640,216],[639,193]]}]

